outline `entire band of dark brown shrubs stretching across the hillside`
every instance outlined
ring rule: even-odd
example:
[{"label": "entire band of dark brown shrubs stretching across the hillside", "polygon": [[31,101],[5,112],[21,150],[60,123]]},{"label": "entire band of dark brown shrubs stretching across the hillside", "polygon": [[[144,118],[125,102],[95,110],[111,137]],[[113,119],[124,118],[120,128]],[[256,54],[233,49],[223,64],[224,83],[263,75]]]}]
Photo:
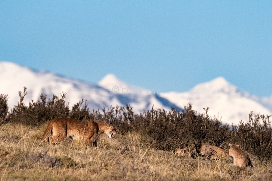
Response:
[{"label": "entire band of dark brown shrubs stretching across the hillside", "polygon": [[[139,133],[141,145],[163,151],[189,147],[199,153],[201,144],[220,146],[228,150],[228,143],[239,143],[241,147],[257,156],[264,164],[272,158],[272,128],[269,116],[249,114],[249,121],[232,126],[222,124],[221,120],[206,113],[199,114],[188,104],[183,110],[154,109],[135,114],[130,105],[104,107],[102,112],[89,111],[86,101],[76,103],[69,109],[65,101],[66,93],[60,97],[53,95],[47,99],[44,94],[36,102],[26,106],[23,102],[26,87],[19,92],[20,100],[9,112],[7,95],[0,95],[0,121],[2,123],[21,123],[22,125],[40,127],[47,121],[58,117],[70,117],[79,120],[103,121],[113,124],[118,134]],[[122,148],[126,151],[126,147]]]}]

